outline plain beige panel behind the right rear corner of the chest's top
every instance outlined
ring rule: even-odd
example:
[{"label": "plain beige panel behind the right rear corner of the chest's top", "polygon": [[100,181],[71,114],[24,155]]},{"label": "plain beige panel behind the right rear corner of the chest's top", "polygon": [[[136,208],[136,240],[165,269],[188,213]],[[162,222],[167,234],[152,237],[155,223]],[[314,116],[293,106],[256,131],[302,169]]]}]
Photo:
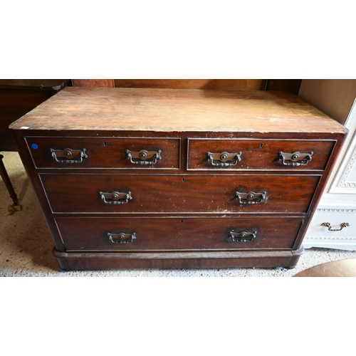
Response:
[{"label": "plain beige panel behind the right rear corner of the chest's top", "polygon": [[303,79],[298,95],[343,125],[356,98],[356,79]]}]

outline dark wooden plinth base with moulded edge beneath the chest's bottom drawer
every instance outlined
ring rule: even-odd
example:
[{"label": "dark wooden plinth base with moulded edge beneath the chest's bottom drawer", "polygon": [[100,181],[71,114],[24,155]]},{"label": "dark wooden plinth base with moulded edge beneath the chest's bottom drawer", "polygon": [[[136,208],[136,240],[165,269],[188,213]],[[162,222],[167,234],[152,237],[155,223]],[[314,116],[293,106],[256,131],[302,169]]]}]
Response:
[{"label": "dark wooden plinth base with moulded edge beneath the chest's bottom drawer", "polygon": [[294,268],[299,251],[162,253],[62,253],[53,249],[63,270],[130,268]]}]

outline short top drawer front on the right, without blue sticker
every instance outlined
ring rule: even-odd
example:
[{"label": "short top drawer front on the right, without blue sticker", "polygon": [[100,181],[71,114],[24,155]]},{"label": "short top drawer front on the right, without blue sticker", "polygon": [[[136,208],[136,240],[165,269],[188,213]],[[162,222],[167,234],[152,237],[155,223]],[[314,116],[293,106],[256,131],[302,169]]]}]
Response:
[{"label": "short top drawer front on the right, without blue sticker", "polygon": [[189,139],[187,169],[323,170],[334,145],[335,141]]}]

